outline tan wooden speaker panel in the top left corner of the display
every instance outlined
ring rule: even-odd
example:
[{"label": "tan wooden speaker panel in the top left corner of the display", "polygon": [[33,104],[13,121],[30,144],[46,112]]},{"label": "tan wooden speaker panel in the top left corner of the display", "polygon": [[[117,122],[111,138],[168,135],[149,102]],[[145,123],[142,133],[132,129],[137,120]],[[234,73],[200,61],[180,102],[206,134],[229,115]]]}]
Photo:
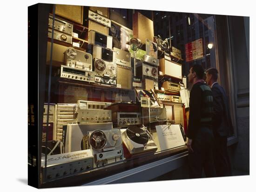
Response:
[{"label": "tan wooden speaker panel in the top left corner of the display", "polygon": [[83,24],[83,6],[56,4],[55,13],[81,25]]}]

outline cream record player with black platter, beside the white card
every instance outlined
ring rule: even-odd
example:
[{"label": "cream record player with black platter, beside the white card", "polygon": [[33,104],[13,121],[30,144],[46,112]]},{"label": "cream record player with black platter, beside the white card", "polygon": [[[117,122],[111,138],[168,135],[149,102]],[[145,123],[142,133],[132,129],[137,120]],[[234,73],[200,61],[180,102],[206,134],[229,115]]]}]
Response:
[{"label": "cream record player with black platter, beside the white card", "polygon": [[154,154],[157,150],[152,135],[144,126],[130,126],[127,129],[121,129],[121,135],[125,158],[142,153]]}]

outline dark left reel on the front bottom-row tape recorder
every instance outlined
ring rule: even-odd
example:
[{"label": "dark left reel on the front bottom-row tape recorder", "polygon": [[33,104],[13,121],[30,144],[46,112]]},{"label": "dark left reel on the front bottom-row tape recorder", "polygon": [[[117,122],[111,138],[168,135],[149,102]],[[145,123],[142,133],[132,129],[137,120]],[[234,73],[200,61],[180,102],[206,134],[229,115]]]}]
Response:
[{"label": "dark left reel on the front bottom-row tape recorder", "polygon": [[89,143],[92,148],[101,150],[107,144],[106,134],[104,134],[101,130],[95,130],[89,136]]}]

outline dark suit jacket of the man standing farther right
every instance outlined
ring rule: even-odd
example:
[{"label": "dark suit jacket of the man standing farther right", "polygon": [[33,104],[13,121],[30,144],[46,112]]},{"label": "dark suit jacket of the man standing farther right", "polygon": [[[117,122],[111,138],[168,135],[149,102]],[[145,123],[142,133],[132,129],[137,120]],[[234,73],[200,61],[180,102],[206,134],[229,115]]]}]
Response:
[{"label": "dark suit jacket of the man standing farther right", "polygon": [[218,83],[212,86],[213,95],[213,132],[218,136],[228,136],[233,126],[225,90]]}]

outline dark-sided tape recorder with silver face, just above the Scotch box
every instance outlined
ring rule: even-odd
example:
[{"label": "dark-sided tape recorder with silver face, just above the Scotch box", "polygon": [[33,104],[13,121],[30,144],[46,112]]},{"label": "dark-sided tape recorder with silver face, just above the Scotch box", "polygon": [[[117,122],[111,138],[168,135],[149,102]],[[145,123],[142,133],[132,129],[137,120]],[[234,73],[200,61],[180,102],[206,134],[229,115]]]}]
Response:
[{"label": "dark-sided tape recorder with silver face, just above the Scotch box", "polygon": [[136,76],[143,79],[149,78],[153,80],[158,80],[158,69],[157,67],[145,64],[143,62],[138,62],[136,65]]}]

